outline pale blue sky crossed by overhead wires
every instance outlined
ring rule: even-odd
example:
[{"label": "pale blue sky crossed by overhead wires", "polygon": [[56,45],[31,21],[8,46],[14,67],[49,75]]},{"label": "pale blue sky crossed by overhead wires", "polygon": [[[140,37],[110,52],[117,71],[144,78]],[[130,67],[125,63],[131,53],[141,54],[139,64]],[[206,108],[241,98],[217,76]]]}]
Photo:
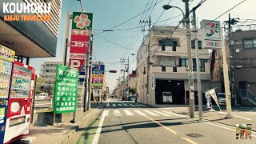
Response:
[{"label": "pale blue sky crossed by overhead wires", "polygon": [[[95,33],[100,33],[101,30],[108,30],[111,27],[117,26],[118,24],[125,22],[126,20],[133,18],[135,15],[140,14],[145,10],[146,4],[148,3],[147,8],[150,7],[155,2],[158,3],[157,6],[154,6],[154,10],[143,15],[139,15],[137,18],[134,18],[130,22],[126,22],[125,24],[116,27],[114,30],[133,28],[138,26],[138,22],[140,20],[145,20],[149,18],[149,14],[151,15],[152,24],[157,21],[158,17],[162,13],[162,6],[167,4],[170,0],[82,0],[82,5],[85,7],[86,12],[93,13],[93,30]],[[190,8],[198,4],[200,0],[194,0],[190,2]],[[197,11],[198,22],[202,19],[214,19],[218,17],[218,15],[222,14],[226,10],[230,9],[230,7],[235,6],[238,2],[242,2],[242,0],[207,0]],[[184,10],[184,2],[182,0],[171,0],[170,5],[179,6]],[[254,6],[256,6],[256,2],[254,0],[247,0],[242,3],[241,6],[238,6],[234,10],[230,11],[230,13],[240,18],[255,18],[256,12],[254,11]],[[59,24],[58,30],[58,44],[57,44],[57,55],[55,58],[33,58],[31,59],[31,66],[34,66],[39,73],[40,66],[43,62],[46,61],[62,61],[63,58],[63,48],[64,48],[64,34],[65,34],[65,22],[66,22],[66,13],[67,12],[81,12],[81,6],[76,0],[62,0],[62,14]],[[177,15],[180,15],[181,11],[177,9],[166,10],[162,17],[158,20],[158,22],[165,20],[166,18],[171,18]],[[143,16],[143,17],[142,17]],[[223,15],[221,18],[218,18],[221,22],[228,18],[228,14]],[[182,16],[178,16],[177,18],[170,19],[169,21],[160,22],[156,25],[171,25],[176,26],[178,21],[182,19]],[[148,26],[146,26],[146,29]],[[138,34],[135,33],[138,30]],[[132,39],[131,37],[137,34],[137,37]],[[100,34],[103,38],[108,39],[110,42],[114,42],[120,46],[129,47],[134,50],[130,50],[127,53],[127,50],[116,46],[110,42],[106,42],[106,40],[102,39],[98,35],[94,36],[94,54],[97,61],[102,61],[106,64],[106,70],[118,70],[117,74],[106,74],[106,82],[107,85],[113,90],[114,86],[117,83],[117,78],[120,75],[120,64],[113,64],[116,62],[120,62],[120,58],[130,58],[130,71],[135,70],[136,68],[136,56],[132,56],[131,53],[137,53],[139,46],[142,43],[143,34],[141,29],[133,29],[133,30],[120,30],[113,32],[105,32]],[[132,45],[130,45],[132,43]],[[125,54],[126,53],[126,54]],[[93,57],[95,61],[95,58]]]}]

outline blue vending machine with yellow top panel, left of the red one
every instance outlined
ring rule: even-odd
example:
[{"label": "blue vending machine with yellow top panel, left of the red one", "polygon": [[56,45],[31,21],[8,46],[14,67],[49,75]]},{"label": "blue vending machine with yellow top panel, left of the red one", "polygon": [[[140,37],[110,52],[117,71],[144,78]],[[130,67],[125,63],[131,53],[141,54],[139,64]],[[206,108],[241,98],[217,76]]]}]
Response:
[{"label": "blue vending machine with yellow top panel, left of the red one", "polygon": [[15,52],[0,45],[0,143],[3,143],[6,130],[6,113],[10,92],[10,79]]}]

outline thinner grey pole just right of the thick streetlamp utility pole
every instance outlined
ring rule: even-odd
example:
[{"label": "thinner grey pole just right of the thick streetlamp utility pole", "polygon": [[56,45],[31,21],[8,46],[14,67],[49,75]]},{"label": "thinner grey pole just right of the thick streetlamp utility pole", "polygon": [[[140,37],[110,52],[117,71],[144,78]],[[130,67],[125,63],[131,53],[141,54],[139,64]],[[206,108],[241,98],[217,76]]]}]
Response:
[{"label": "thinner grey pole just right of the thick streetlamp utility pole", "polygon": [[193,26],[194,26],[194,46],[195,46],[195,54],[197,57],[197,75],[198,75],[198,107],[199,107],[199,121],[202,121],[202,86],[201,86],[201,75],[200,75],[200,67],[199,63],[200,59],[198,58],[199,50],[198,50],[198,30],[197,30],[197,18],[195,15],[195,10],[198,7],[193,8]]}]

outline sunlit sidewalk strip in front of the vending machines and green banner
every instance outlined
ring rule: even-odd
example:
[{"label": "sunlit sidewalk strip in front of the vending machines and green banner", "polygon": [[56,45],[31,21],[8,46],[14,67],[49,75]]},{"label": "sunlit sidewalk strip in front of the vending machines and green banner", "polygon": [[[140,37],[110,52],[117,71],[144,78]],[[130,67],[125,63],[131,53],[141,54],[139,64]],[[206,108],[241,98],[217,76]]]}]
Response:
[{"label": "sunlit sidewalk strip in front of the vending machines and green banner", "polygon": [[[75,130],[86,122],[86,119],[94,115],[94,111],[99,109],[102,104],[97,104],[97,102],[91,102],[91,109],[84,114],[83,119],[78,120],[76,123],[57,123],[55,126],[32,126],[30,125],[30,134],[28,138],[35,138],[33,144],[51,144],[51,143],[62,143],[72,134]],[[14,143],[30,143],[27,140],[19,140]]]}]

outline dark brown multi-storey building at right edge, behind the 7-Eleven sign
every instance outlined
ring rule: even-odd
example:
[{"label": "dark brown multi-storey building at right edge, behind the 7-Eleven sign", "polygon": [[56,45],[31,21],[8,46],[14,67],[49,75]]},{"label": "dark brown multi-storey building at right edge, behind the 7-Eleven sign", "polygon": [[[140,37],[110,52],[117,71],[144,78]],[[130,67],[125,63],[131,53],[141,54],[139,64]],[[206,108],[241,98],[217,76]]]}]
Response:
[{"label": "dark brown multi-storey building at right edge, behind the 7-Eleven sign", "polygon": [[[249,27],[249,26],[248,26]],[[245,28],[240,26],[239,28]],[[235,98],[242,106],[256,106],[256,29],[234,30],[231,33],[231,46],[227,46],[226,58],[229,72],[234,72],[234,98],[231,98],[234,105]],[[213,50],[211,54],[211,79],[215,85],[221,87],[224,92],[222,72],[222,50]],[[230,58],[230,55],[232,57]],[[233,62],[233,67],[230,67]],[[232,91],[231,91],[232,92]]]}]

